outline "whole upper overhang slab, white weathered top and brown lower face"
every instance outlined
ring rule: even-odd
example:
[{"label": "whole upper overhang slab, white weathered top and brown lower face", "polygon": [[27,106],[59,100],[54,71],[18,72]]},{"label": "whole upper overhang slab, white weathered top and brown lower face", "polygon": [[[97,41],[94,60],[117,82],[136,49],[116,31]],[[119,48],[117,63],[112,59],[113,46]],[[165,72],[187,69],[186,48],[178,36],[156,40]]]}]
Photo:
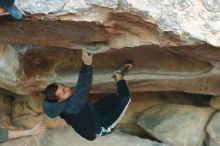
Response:
[{"label": "whole upper overhang slab, white weathered top and brown lower face", "polygon": [[[4,25],[0,27],[1,40],[86,47],[93,52],[152,44],[183,46],[206,42],[219,47],[219,3],[214,0],[18,0],[17,6],[34,16],[19,22],[0,19],[3,21],[0,26]],[[31,34],[35,35],[29,38]]]}]

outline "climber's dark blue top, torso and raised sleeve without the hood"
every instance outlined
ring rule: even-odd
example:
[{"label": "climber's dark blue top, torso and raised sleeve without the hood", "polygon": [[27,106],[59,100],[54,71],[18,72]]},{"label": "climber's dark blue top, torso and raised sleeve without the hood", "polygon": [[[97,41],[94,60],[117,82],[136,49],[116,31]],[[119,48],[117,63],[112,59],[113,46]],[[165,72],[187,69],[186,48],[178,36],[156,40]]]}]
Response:
[{"label": "climber's dark blue top, torso and raised sleeve without the hood", "polygon": [[92,67],[83,64],[77,80],[74,94],[68,99],[64,111],[60,114],[67,124],[88,140],[94,140],[96,134],[100,133],[101,126],[98,115],[88,100],[92,84]]}]

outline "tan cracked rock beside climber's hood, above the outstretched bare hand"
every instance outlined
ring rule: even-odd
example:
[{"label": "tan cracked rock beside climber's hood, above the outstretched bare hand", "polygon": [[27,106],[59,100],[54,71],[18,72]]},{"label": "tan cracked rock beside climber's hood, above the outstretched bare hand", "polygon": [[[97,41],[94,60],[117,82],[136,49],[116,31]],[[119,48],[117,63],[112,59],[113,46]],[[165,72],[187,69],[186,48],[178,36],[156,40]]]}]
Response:
[{"label": "tan cracked rock beside climber's hood, above the outstretched bare hand", "polygon": [[51,119],[42,109],[44,95],[32,94],[16,98],[12,106],[12,121],[17,127],[32,128],[39,121],[44,121],[47,128],[66,127],[64,120]]}]

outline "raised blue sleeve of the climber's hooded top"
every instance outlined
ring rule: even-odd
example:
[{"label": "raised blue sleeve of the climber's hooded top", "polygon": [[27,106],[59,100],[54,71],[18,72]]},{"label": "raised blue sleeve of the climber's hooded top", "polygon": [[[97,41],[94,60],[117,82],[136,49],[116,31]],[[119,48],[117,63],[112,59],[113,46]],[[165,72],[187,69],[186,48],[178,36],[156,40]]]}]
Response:
[{"label": "raised blue sleeve of the climber's hooded top", "polygon": [[92,85],[92,75],[92,66],[82,64],[75,91],[67,101],[67,105],[63,111],[64,114],[78,113],[88,102],[88,96]]}]

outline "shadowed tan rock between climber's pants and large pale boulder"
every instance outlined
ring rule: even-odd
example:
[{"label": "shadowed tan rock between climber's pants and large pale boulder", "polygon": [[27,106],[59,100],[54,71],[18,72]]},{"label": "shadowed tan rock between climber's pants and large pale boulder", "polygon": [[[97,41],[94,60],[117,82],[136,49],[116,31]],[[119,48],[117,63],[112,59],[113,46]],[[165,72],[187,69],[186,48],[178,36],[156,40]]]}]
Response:
[{"label": "shadowed tan rock between climber's pants and large pale boulder", "polygon": [[147,108],[167,103],[162,93],[132,93],[131,103],[123,116],[117,129],[132,135],[147,137],[146,133],[136,124],[139,115]]}]

